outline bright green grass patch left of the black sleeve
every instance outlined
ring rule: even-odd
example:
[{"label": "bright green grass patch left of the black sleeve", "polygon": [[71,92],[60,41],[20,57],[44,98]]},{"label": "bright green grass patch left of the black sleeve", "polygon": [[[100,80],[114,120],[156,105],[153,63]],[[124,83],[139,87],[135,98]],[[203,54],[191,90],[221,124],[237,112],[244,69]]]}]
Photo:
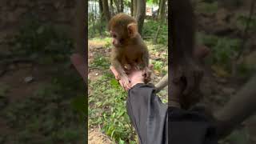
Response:
[{"label": "bright green grass patch left of the black sleeve", "polygon": [[102,126],[105,134],[114,141],[134,141],[134,130],[126,114],[126,92],[114,76],[105,73],[89,83],[89,125]]}]

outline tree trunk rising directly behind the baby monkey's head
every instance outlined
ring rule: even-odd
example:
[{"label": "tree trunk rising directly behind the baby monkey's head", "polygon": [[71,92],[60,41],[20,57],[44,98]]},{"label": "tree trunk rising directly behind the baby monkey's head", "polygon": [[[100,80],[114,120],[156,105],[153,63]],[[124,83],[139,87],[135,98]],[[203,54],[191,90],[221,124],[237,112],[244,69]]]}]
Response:
[{"label": "tree trunk rising directly behind the baby monkey's head", "polygon": [[138,33],[141,35],[142,35],[142,28],[143,28],[145,16],[146,16],[146,1],[139,0],[137,1],[136,19],[138,22]]}]

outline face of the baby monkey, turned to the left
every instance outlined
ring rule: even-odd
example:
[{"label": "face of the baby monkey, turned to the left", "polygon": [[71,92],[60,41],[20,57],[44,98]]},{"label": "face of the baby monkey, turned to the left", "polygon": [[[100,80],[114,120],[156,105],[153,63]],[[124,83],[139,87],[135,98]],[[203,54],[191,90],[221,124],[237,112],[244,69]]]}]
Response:
[{"label": "face of the baby monkey, turned to the left", "polygon": [[125,46],[125,40],[126,40],[126,37],[124,37],[123,34],[119,34],[115,31],[110,31],[110,35],[112,37],[112,44],[113,46],[115,47],[122,47],[122,46]]}]

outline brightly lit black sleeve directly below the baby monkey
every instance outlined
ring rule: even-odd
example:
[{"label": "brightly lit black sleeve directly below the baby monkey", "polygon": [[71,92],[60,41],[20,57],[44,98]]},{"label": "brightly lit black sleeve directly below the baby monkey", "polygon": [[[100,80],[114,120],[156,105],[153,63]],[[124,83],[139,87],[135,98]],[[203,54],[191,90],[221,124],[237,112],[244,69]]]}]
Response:
[{"label": "brightly lit black sleeve directly below the baby monkey", "polygon": [[167,143],[167,106],[154,94],[154,86],[134,86],[126,107],[141,144]]}]

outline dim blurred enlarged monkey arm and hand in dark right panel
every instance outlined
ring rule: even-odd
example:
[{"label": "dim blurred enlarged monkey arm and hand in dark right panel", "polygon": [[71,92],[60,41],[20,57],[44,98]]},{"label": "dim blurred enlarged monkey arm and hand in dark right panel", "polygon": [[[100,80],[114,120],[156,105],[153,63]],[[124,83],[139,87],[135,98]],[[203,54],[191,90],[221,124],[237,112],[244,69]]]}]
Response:
[{"label": "dim blurred enlarged monkey arm and hand in dark right panel", "polygon": [[[172,1],[170,15],[169,50],[169,99],[180,98],[182,108],[194,105],[202,96],[199,85],[202,70],[194,58],[195,21],[194,10],[190,0]],[[172,94],[178,83],[185,84],[182,94]],[[180,89],[178,87],[178,89]]]}]

